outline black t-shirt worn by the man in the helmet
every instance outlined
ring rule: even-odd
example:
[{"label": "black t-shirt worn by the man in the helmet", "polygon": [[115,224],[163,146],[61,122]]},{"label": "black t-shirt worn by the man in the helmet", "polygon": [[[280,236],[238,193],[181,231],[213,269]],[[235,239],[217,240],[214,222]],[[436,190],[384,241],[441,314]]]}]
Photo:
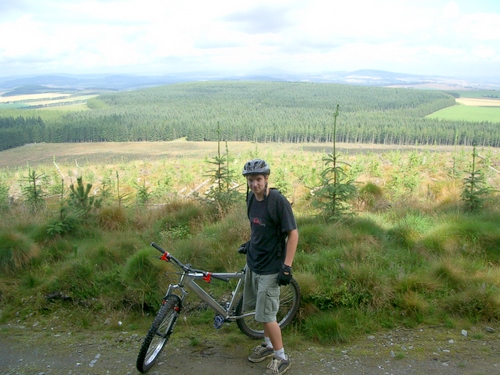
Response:
[{"label": "black t-shirt worn by the man in the helmet", "polygon": [[254,197],[249,210],[251,237],[247,264],[253,272],[260,275],[278,273],[281,270],[286,254],[284,249],[279,254],[279,233],[288,233],[297,228],[288,200],[278,192],[272,193],[276,194],[274,199],[277,199],[275,206],[278,212],[274,216],[280,218],[280,222],[275,223],[269,214],[269,196],[260,202]]}]

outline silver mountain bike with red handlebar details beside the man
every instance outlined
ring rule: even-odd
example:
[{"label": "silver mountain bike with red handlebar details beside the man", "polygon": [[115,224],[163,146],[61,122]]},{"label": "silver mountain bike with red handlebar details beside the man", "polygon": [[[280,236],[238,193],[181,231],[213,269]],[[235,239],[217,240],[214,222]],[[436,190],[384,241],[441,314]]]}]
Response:
[{"label": "silver mountain bike with red handlebar details beside the man", "polygon": [[[137,357],[137,370],[141,373],[147,372],[156,362],[160,352],[163,350],[172,334],[175,323],[183,307],[183,302],[188,295],[187,289],[198,296],[210,308],[216,312],[214,327],[220,328],[225,322],[234,322],[238,328],[248,337],[262,338],[264,331],[261,324],[254,319],[255,312],[243,312],[243,281],[245,268],[239,272],[208,272],[194,269],[190,264],[184,264],[160,246],[151,243],[155,249],[163,255],[161,260],[171,262],[180,269],[177,284],[170,284],[162,300],[162,306],[158,311],[153,323],[144,338],[139,355]],[[208,294],[197,281],[204,280],[208,283],[212,279],[230,281],[237,280],[235,289],[231,292],[231,300],[225,306],[217,302]],[[187,288],[187,289],[186,289]],[[295,279],[289,285],[281,286],[280,307],[277,320],[281,328],[286,327],[294,318],[300,304],[300,288]]]}]

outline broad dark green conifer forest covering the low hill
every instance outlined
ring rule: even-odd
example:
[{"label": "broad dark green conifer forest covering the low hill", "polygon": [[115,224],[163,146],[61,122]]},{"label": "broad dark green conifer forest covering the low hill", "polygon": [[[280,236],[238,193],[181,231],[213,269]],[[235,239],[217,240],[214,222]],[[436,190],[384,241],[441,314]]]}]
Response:
[{"label": "broad dark green conifer forest covering the low hill", "polygon": [[442,91],[292,82],[196,82],[114,92],[90,110],[0,111],[0,150],[28,143],[331,142],[500,147],[500,126],[426,118],[455,105]]}]

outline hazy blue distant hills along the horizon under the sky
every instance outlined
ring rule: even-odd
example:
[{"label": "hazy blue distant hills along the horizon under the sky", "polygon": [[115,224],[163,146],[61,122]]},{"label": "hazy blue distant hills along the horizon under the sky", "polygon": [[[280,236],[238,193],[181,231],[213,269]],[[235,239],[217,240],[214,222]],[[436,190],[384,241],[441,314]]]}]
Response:
[{"label": "hazy blue distant hills along the horizon under the sky", "polygon": [[196,81],[281,81],[339,83],[358,86],[413,87],[440,90],[488,89],[500,90],[500,78],[465,79],[442,76],[425,76],[382,70],[336,71],[318,74],[294,74],[276,69],[261,70],[246,75],[217,75],[209,73],[184,73],[170,75],[38,75],[0,77],[0,91],[11,91],[23,86],[41,85],[46,88],[71,90],[133,90],[177,82]]}]

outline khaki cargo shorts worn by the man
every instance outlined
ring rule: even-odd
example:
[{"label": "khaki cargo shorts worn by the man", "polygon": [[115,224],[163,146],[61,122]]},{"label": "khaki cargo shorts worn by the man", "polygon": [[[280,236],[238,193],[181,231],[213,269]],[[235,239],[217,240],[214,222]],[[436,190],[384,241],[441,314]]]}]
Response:
[{"label": "khaki cargo shorts worn by the man", "polygon": [[258,275],[247,268],[243,289],[244,311],[255,309],[255,320],[261,323],[276,321],[280,304],[278,274]]}]

